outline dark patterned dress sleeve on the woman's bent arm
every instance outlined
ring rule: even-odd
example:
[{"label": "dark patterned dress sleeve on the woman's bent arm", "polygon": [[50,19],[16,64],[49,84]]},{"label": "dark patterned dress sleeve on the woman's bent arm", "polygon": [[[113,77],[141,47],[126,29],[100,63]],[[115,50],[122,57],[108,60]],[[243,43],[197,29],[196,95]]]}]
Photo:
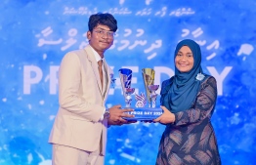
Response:
[{"label": "dark patterned dress sleeve on the woman's bent arm", "polygon": [[214,77],[209,77],[203,83],[199,95],[196,97],[192,108],[175,113],[174,125],[186,125],[211,118],[217,99],[217,85]]}]

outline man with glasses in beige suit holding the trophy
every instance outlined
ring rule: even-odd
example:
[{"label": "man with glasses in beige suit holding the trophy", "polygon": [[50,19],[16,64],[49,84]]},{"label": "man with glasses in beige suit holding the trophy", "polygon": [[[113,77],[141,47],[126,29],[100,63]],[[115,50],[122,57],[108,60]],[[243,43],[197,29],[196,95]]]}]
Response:
[{"label": "man with glasses in beige suit holding the trophy", "polygon": [[103,165],[107,125],[126,124],[122,117],[133,117],[124,113],[132,109],[121,105],[105,107],[112,71],[104,56],[117,21],[99,13],[90,17],[88,26],[89,45],[67,53],[60,66],[60,108],[49,140],[53,165]]}]

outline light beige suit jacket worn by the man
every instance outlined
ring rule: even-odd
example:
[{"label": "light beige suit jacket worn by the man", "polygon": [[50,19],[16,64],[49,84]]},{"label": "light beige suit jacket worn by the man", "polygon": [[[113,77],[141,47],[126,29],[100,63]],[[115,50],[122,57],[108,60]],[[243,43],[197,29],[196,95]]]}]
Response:
[{"label": "light beige suit jacket worn by the man", "polygon": [[87,151],[101,146],[101,153],[105,155],[107,119],[100,121],[100,118],[104,114],[112,70],[105,60],[104,67],[107,71],[105,96],[92,47],[88,45],[64,56],[59,70],[60,108],[49,143]]}]

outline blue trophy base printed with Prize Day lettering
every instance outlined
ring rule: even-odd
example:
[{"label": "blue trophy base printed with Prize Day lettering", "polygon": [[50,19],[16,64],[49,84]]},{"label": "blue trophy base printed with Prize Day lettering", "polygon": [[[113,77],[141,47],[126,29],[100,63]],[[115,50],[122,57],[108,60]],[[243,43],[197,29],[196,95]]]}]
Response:
[{"label": "blue trophy base printed with Prize Day lettering", "polygon": [[123,117],[128,121],[151,121],[159,117],[163,110],[161,108],[152,108],[152,107],[131,107],[134,111],[126,112],[128,114],[132,114],[135,117]]}]

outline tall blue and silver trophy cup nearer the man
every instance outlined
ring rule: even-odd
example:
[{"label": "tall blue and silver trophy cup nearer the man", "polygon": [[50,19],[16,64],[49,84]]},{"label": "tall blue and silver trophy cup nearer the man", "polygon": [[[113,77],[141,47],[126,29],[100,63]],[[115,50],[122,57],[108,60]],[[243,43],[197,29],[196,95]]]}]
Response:
[{"label": "tall blue and silver trophy cup nearer the man", "polygon": [[134,88],[131,88],[132,82],[132,70],[129,68],[119,69],[119,77],[121,81],[123,96],[125,99],[125,107],[131,107],[132,97],[134,93]]}]

